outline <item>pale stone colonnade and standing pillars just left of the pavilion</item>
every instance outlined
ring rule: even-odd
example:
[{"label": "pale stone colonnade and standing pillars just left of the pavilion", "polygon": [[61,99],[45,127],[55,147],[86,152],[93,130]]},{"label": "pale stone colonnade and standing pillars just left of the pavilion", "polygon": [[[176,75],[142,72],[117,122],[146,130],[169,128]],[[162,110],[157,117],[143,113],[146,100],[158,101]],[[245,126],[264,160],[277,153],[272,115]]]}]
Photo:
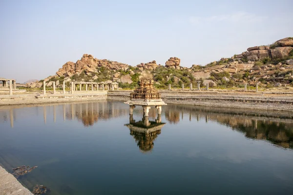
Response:
[{"label": "pale stone colonnade and standing pillars just left of the pavilion", "polygon": [[[74,94],[75,91],[104,91],[105,87],[107,90],[114,90],[115,85],[117,90],[119,90],[119,86],[117,82],[71,82],[70,83],[70,92]],[[96,89],[94,90],[96,86]],[[65,94],[65,81],[63,81],[63,85],[57,85],[56,82],[53,81],[53,94],[56,94],[56,87],[63,88],[63,94]],[[43,95],[46,95],[46,81],[43,81]]]}]

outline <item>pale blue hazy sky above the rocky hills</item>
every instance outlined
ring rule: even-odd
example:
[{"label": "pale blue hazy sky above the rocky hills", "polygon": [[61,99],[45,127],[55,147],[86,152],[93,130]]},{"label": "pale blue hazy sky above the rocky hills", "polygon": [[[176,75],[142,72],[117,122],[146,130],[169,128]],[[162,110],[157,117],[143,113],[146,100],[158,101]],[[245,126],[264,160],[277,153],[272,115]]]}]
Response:
[{"label": "pale blue hazy sky above the rocky hills", "polygon": [[132,66],[230,58],[293,37],[293,0],[0,0],[0,78],[55,75],[83,54]]}]

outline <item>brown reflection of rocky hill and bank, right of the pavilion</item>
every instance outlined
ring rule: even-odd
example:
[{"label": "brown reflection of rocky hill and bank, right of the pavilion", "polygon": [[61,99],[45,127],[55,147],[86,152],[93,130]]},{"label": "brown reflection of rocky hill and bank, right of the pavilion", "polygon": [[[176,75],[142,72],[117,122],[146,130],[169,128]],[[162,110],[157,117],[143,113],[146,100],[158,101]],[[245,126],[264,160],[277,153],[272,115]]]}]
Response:
[{"label": "brown reflection of rocky hill and bank, right of the pavilion", "polygon": [[233,130],[242,132],[245,137],[270,141],[283,148],[293,148],[293,115],[266,111],[239,111],[235,109],[168,105],[165,108],[166,119],[173,124],[180,121],[180,113],[192,117],[204,118],[208,123],[214,121]]}]

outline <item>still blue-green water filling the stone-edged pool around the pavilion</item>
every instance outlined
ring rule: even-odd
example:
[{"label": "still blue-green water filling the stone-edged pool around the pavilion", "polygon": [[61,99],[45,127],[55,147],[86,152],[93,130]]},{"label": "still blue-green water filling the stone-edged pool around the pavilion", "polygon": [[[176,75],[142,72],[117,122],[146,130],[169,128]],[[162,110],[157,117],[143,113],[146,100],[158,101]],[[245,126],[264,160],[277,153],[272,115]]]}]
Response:
[{"label": "still blue-green water filling the stone-edged pool around the pavilion", "polygon": [[293,192],[291,113],[167,105],[147,128],[142,117],[123,102],[2,107],[0,165],[38,166],[19,180],[51,195]]}]

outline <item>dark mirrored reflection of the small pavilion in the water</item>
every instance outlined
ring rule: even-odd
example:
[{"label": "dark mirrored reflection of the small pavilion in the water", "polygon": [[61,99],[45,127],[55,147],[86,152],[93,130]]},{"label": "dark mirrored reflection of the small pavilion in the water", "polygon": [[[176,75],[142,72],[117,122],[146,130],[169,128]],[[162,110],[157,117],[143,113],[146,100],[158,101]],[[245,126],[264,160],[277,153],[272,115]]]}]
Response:
[{"label": "dark mirrored reflection of the small pavilion in the water", "polygon": [[161,129],[166,123],[161,123],[161,115],[156,121],[149,121],[148,117],[135,122],[133,115],[129,115],[129,124],[125,126],[130,129],[130,135],[134,137],[137,146],[142,152],[149,152],[154,146],[154,140],[161,134]]}]

